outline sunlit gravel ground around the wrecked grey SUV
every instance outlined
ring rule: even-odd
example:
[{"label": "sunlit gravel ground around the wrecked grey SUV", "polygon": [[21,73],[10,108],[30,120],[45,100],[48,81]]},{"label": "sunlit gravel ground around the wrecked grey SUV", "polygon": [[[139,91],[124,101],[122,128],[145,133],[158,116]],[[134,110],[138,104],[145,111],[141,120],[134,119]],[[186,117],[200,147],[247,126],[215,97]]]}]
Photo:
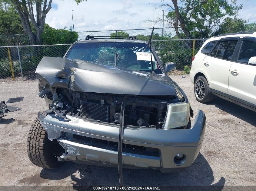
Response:
[{"label": "sunlit gravel ground around the wrecked grey SUV", "polygon": [[[196,101],[193,85],[181,75],[171,76],[185,91],[194,113],[204,111],[207,127],[201,152],[180,173],[124,169],[126,185],[256,186],[255,112],[215,98],[209,104]],[[47,106],[38,95],[38,81],[1,82],[0,100],[24,97],[9,103],[22,110],[0,119],[0,185],[118,185],[118,169],[66,162],[58,169],[42,169],[27,156],[27,134],[38,111]],[[192,119],[192,122],[194,118]],[[255,187],[254,187],[255,189]]]}]

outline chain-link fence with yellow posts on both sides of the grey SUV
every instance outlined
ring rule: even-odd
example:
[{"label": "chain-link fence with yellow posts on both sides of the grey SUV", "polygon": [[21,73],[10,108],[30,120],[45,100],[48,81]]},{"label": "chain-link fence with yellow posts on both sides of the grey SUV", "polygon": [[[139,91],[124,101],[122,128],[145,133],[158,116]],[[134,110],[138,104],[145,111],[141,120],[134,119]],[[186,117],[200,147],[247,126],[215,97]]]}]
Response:
[{"label": "chain-link fence with yellow posts on both sides of the grey SUV", "polygon": [[[191,67],[195,55],[206,39],[152,40],[163,65],[175,62],[177,70]],[[43,56],[63,57],[71,44],[0,47],[0,81],[37,79],[35,69]]]}]

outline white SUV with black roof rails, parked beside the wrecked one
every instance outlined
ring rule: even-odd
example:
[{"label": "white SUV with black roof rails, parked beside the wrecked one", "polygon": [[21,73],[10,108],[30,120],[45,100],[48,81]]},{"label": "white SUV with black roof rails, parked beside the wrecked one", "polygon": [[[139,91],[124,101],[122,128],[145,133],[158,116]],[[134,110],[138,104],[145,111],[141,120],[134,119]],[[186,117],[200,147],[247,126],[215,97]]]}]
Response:
[{"label": "white SUV with black roof rails, parked beside the wrecked one", "polygon": [[256,111],[256,32],[206,40],[192,59],[190,80],[201,103],[216,95]]}]

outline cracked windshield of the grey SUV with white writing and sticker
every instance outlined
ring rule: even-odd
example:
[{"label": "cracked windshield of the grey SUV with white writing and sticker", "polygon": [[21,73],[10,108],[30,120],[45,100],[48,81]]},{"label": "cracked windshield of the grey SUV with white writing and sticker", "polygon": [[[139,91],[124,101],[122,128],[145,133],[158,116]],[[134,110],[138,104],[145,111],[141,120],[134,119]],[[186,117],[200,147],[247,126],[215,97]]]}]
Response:
[{"label": "cracked windshield of the grey SUV with white writing and sticker", "polygon": [[[71,47],[66,58],[151,72],[150,49],[145,50],[146,46],[145,43],[77,43]],[[161,74],[153,53],[152,61],[154,72]]]}]

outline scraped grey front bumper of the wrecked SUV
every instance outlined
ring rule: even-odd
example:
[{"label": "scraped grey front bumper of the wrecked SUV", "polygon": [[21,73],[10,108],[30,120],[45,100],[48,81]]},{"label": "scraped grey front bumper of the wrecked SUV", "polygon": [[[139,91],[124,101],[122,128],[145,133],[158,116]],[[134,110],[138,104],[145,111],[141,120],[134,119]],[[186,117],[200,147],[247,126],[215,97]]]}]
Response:
[{"label": "scraped grey front bumper of the wrecked SUV", "polygon": [[[58,157],[59,161],[101,166],[118,166],[118,151],[102,146],[91,146],[83,141],[75,141],[75,136],[102,140],[102,142],[118,143],[119,128],[116,126],[92,123],[73,116],[63,119],[56,114],[47,116],[39,114],[42,126],[48,133],[48,139],[57,139],[65,149]],[[123,151],[124,168],[152,168],[161,172],[173,172],[189,167],[198,156],[202,141],[206,118],[199,110],[191,129],[124,129],[123,144],[158,149],[158,155],[138,154],[134,149]],[[74,136],[75,135],[75,136]],[[179,153],[185,155],[183,161],[175,161]]]}]

